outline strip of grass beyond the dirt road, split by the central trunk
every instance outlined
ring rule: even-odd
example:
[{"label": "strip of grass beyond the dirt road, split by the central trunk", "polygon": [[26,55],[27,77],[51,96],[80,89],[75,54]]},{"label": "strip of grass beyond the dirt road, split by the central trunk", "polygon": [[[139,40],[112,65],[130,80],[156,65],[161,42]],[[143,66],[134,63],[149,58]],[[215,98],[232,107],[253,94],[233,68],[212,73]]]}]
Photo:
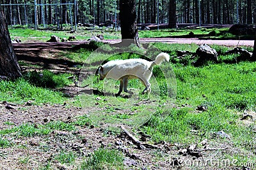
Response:
[{"label": "strip of grass beyond the dirt road, split by the central trunk", "polygon": [[[209,35],[210,32],[214,31],[215,35]],[[37,42],[46,42],[51,38],[52,35],[58,36],[60,38],[67,38],[69,36],[76,36],[76,40],[83,41],[91,38],[93,35],[103,34],[104,39],[121,39],[120,31],[108,30],[106,28],[103,29],[93,29],[86,30],[84,27],[79,27],[76,32],[70,33],[70,27],[65,27],[64,31],[58,31],[56,28],[53,28],[52,31],[47,30],[37,30],[28,29],[27,27],[10,27],[9,28],[10,36],[12,39],[20,39],[22,43],[26,43],[29,41],[37,41]],[[232,38],[244,38],[244,39],[252,39],[252,36],[236,36],[228,33],[228,28],[211,28],[211,29],[160,29],[151,30],[151,31],[139,31],[140,38],[170,38],[170,37],[179,37],[179,36],[187,36],[189,37],[189,33],[193,32],[196,36],[202,36],[202,38],[212,38],[212,39],[232,39]]]}]

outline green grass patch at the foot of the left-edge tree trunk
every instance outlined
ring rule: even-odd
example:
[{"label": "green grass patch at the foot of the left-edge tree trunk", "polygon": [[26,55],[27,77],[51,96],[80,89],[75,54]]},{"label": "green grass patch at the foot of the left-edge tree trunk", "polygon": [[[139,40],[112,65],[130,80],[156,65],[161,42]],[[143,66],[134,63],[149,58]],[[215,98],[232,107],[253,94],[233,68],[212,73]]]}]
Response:
[{"label": "green grass patch at the foot of the left-edge tree trunk", "polygon": [[65,94],[55,90],[72,83],[70,74],[53,74],[50,71],[37,73],[32,71],[15,81],[0,81],[0,99],[10,103],[63,103],[67,101]]}]

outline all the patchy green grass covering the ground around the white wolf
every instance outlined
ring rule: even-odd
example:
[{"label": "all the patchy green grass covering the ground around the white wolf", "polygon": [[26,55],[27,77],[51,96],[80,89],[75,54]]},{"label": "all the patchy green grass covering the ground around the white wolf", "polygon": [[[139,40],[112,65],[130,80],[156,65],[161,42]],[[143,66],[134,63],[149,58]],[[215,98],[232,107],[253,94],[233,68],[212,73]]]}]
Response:
[{"label": "all the patchy green grass covering the ground around the white wolf", "polygon": [[[10,29],[10,32],[12,38],[19,38],[19,30]],[[45,41],[52,34],[52,32],[47,31],[36,31],[35,33],[35,31],[26,30],[25,32],[28,36],[36,34],[35,37],[40,41]],[[38,32],[42,34],[38,34]],[[204,31],[199,31],[199,33],[204,33]],[[207,34],[207,31],[205,33]],[[54,32],[54,34],[61,37],[69,36],[69,33],[63,34],[63,32]],[[170,34],[180,35],[181,33],[170,33],[170,31],[163,30],[160,34],[155,31],[145,31],[141,32],[140,35],[141,37],[161,37]],[[188,34],[188,31],[182,34]],[[112,33],[109,35],[109,38],[119,37],[119,35],[115,36]],[[89,37],[90,33],[87,33],[81,37],[77,36],[77,39]],[[100,46],[100,44],[98,45]],[[97,83],[93,74],[80,80],[80,85],[86,86],[88,89],[99,90],[99,92],[104,91],[106,96],[95,93],[83,94],[80,97],[68,97],[59,89],[73,83],[69,79],[72,74],[53,74],[47,70],[42,73],[33,71],[26,73],[16,81],[0,81],[1,101],[15,104],[34,101],[33,104],[35,105],[67,103],[67,107],[89,108],[89,115],[93,119],[91,122],[92,120],[88,120],[86,115],[83,115],[76,117],[71,122],[53,121],[36,126],[29,123],[15,125],[13,122],[3,122],[5,128],[0,130],[0,149],[17,147],[17,144],[13,143],[10,138],[32,138],[35,136],[47,138],[56,129],[76,133],[77,129],[88,124],[104,127],[100,124],[103,121],[106,125],[122,122],[130,127],[135,127],[133,130],[135,134],[141,131],[150,136],[148,143],[165,141],[172,145],[179,145],[180,148],[188,148],[192,144],[196,144],[200,148],[202,147],[200,143],[207,139],[209,147],[227,146],[228,150],[218,151],[221,152],[222,159],[237,160],[237,162],[230,167],[218,167],[220,169],[236,167],[242,169],[243,166],[241,165],[256,162],[256,63],[248,60],[236,62],[239,55],[224,55],[231,47],[212,46],[219,53],[218,63],[207,62],[200,67],[195,67],[193,62],[196,57],[186,55],[178,58],[177,50],[195,52],[197,45],[168,45],[164,43],[154,43],[153,45],[159,51],[169,53],[172,58],[171,62],[163,63],[163,66],[154,68],[154,76],[150,81],[152,83],[150,100],[147,100],[147,95],[141,94],[143,85],[140,81],[132,80],[129,83],[129,89],[132,89],[136,96],[130,98],[125,95],[115,97],[113,94],[118,92],[119,83],[111,80]],[[104,50],[103,53],[95,53],[90,49],[79,49],[65,53],[65,57],[80,63],[83,73],[95,71],[98,66],[95,63],[99,64],[105,59],[143,57],[140,55],[140,49],[136,49],[134,46],[131,49],[136,53],[115,53],[115,49],[108,45],[102,46],[102,49]],[[253,50],[250,47],[246,47],[246,49],[250,52]],[[113,53],[115,54],[113,55]],[[154,52],[148,50],[148,56],[153,55]],[[82,66],[83,62],[85,62],[84,66]],[[20,64],[22,66],[24,63],[20,61]],[[175,82],[170,83],[169,81],[173,81],[173,79],[168,79],[164,75],[170,76],[173,75],[172,73],[175,74]],[[76,79],[79,80],[79,77]],[[172,99],[172,95],[168,94],[172,90],[175,90],[175,94],[173,94],[175,100]],[[96,108],[95,99],[97,99],[97,109],[92,109]],[[164,104],[170,107],[164,108]],[[244,114],[250,115],[247,120],[241,119]],[[131,123],[130,120],[134,122]],[[115,134],[116,129],[113,130]],[[221,136],[219,132],[225,132],[227,136]],[[209,158],[211,154],[216,152],[213,151],[205,157]],[[156,155],[156,162],[167,159],[160,156],[163,154],[160,151],[156,151],[154,154]],[[63,149],[54,153],[53,158],[46,162],[45,166],[40,166],[39,169],[53,169],[54,161],[67,166],[76,164],[76,169],[102,169],[103,167],[126,169],[127,167],[123,165],[124,157],[124,153],[108,148],[98,148],[90,155],[81,155]],[[20,164],[28,164],[29,160],[31,160],[30,155],[20,157]],[[77,160],[82,161],[77,164]],[[208,167],[212,168],[211,166]],[[196,169],[196,167],[188,168]]]}]

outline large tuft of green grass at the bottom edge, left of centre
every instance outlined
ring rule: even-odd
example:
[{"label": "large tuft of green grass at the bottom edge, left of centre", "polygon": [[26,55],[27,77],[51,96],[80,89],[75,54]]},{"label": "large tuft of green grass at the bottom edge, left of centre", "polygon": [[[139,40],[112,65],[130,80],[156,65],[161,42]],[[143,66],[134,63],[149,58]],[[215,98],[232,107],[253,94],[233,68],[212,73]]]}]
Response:
[{"label": "large tuft of green grass at the bottom edge, left of centre", "polygon": [[91,157],[87,157],[79,170],[123,169],[124,156],[117,150],[99,148]]}]

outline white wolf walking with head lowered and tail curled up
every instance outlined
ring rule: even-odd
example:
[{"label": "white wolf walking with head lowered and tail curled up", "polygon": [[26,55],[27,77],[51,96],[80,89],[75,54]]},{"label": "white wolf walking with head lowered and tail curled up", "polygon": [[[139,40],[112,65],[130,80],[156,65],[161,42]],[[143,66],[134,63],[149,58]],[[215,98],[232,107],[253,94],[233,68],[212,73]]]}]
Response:
[{"label": "white wolf walking with head lowered and tail curled up", "polygon": [[104,78],[120,80],[120,88],[116,96],[120,96],[123,89],[124,92],[133,94],[127,90],[128,81],[131,79],[139,79],[146,87],[143,94],[147,91],[149,96],[151,92],[149,80],[152,76],[153,67],[161,64],[163,60],[169,61],[170,55],[159,53],[154,61],[144,59],[111,60],[103,66],[99,66],[96,74],[100,75],[100,80],[104,80]]}]

